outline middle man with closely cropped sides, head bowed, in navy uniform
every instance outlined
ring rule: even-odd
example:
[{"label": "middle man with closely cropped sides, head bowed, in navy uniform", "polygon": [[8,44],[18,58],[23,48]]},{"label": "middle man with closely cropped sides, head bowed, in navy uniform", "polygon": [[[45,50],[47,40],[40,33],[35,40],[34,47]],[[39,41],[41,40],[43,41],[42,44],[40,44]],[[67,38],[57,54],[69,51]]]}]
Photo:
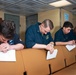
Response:
[{"label": "middle man with closely cropped sides, head bowed, in navy uniform", "polygon": [[27,48],[39,48],[50,50],[52,53],[53,39],[50,30],[53,29],[53,22],[49,19],[44,20],[42,23],[31,25],[25,34],[25,46]]}]

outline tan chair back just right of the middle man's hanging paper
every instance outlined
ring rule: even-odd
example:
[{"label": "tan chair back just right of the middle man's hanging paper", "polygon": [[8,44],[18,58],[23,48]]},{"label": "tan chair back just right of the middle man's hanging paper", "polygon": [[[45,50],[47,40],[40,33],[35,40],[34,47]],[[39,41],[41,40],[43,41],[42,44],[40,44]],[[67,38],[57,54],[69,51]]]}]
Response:
[{"label": "tan chair back just right of the middle man's hanging paper", "polygon": [[49,64],[51,65],[51,73],[65,67],[64,55],[61,46],[55,46],[54,48],[58,50],[58,54],[56,58],[49,60]]}]

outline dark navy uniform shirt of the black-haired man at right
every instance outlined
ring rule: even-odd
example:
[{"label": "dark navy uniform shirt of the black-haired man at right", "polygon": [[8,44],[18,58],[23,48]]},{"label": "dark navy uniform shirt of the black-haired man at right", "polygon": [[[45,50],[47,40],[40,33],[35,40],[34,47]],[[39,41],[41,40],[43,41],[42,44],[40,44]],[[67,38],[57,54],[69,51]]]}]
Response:
[{"label": "dark navy uniform shirt of the black-haired man at right", "polygon": [[72,30],[70,31],[70,33],[64,34],[61,28],[55,33],[54,42],[67,42],[71,40],[74,40],[74,35]]}]

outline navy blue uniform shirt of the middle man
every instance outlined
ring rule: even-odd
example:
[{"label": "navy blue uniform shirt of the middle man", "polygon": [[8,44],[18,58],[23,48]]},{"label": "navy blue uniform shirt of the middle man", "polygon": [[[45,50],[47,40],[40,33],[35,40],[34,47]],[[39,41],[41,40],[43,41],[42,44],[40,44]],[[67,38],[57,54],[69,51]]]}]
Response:
[{"label": "navy blue uniform shirt of the middle man", "polygon": [[50,32],[47,34],[42,34],[39,30],[40,23],[36,25],[31,25],[25,33],[25,46],[27,48],[32,48],[36,43],[37,44],[49,44],[53,41]]}]

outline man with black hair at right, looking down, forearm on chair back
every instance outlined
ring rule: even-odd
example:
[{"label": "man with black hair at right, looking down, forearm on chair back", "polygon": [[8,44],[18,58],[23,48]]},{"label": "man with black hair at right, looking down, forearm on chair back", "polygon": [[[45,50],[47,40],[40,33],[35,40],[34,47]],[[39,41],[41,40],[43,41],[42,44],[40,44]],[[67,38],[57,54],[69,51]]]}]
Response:
[{"label": "man with black hair at right, looking down, forearm on chair back", "polygon": [[66,21],[63,27],[55,33],[54,42],[55,45],[67,45],[74,44],[74,35],[72,31],[73,25],[71,22]]}]

